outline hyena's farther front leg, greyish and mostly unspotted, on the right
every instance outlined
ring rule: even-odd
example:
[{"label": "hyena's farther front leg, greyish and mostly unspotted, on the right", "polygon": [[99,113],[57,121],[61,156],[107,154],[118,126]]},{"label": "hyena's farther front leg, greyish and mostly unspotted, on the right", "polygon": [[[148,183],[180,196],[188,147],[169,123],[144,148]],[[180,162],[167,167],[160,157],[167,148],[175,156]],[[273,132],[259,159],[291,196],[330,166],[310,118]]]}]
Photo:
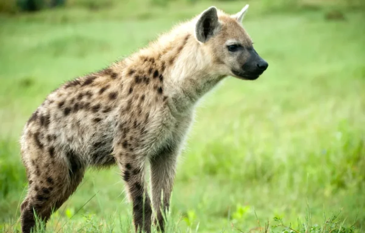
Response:
[{"label": "hyena's farther front leg, greyish and mostly unspotted, on the right", "polygon": [[156,212],[155,224],[164,232],[164,216],[169,209],[175,178],[177,151],[166,147],[150,159],[152,202]]}]

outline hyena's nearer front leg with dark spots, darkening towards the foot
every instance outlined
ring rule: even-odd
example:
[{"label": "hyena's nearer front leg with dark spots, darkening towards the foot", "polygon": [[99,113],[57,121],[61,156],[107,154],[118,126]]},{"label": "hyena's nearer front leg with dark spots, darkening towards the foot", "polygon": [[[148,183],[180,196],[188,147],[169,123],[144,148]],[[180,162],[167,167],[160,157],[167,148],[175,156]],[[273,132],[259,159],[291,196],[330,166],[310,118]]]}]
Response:
[{"label": "hyena's nearer front leg with dark spots, darkening towards the foot", "polygon": [[151,232],[151,201],[144,178],[145,157],[122,147],[115,148],[115,158],[126,185],[126,192],[133,204],[135,231]]}]

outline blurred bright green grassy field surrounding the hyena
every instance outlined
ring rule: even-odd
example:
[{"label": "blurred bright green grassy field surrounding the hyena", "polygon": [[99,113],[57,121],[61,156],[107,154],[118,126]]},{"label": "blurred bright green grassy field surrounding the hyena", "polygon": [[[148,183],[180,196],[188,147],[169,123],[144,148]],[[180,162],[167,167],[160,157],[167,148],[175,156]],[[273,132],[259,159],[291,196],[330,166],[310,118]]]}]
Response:
[{"label": "blurred bright green grassy field surrounding the hyena", "polygon": [[[279,12],[267,2],[250,1],[244,25],[269,68],[254,82],[228,78],[204,98],[168,232],[265,232],[268,222],[282,232],[274,218],[296,232],[365,232],[364,11],[346,8],[341,19],[327,13],[333,7]],[[20,229],[27,183],[18,140],[49,92],[210,5],[235,13],[246,3],[138,0],[0,16],[0,232]],[[326,222],[339,212],[337,225]],[[116,167],[88,171],[47,224],[47,232],[131,229]]]}]

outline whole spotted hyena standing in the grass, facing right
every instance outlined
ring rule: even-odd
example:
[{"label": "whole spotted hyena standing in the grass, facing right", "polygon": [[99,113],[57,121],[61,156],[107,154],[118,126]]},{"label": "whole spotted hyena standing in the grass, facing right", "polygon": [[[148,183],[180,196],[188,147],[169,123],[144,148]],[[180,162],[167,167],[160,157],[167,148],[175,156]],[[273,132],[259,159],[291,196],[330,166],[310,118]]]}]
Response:
[{"label": "whole spotted hyena standing in the grass, facing right", "polygon": [[115,164],[135,230],[150,232],[154,222],[164,231],[176,160],[197,101],[226,76],[254,80],[268,67],[242,27],[247,8],[228,15],[210,7],[128,58],[51,92],[20,140],[29,181],[22,232],[34,227],[34,213],[47,221],[88,167]]}]

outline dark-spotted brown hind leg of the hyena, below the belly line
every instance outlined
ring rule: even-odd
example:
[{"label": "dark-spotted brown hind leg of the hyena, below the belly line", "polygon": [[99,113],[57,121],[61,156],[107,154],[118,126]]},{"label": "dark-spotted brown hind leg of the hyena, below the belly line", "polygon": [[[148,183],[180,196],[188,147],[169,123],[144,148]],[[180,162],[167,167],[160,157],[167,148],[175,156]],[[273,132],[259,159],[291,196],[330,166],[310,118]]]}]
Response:
[{"label": "dark-spotted brown hind leg of the hyena, below the belly line", "polygon": [[61,207],[82,181],[85,169],[76,166],[74,162],[77,160],[74,158],[70,161],[70,169],[54,161],[52,172],[48,170],[50,166],[43,166],[44,163],[27,164],[27,170],[34,173],[29,176],[28,194],[20,207],[23,233],[30,233],[34,229],[34,213],[46,223],[52,211]]}]

